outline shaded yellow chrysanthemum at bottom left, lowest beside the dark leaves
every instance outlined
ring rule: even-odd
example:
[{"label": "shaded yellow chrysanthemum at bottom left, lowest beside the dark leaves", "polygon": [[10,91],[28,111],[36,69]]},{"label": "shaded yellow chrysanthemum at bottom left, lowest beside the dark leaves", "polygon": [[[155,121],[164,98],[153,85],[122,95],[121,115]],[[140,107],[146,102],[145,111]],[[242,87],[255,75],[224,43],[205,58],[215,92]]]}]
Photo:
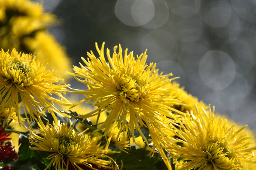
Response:
[{"label": "shaded yellow chrysanthemum at bottom left, lowest beside the dark leaves", "polygon": [[45,126],[38,119],[38,125],[42,137],[32,132],[29,140],[34,145],[31,149],[49,153],[47,159],[51,161],[47,168],[55,166],[56,170],[67,170],[68,167],[79,169],[81,165],[92,170],[96,170],[93,165],[114,168],[112,161],[104,160],[109,158],[106,156],[107,153],[114,152],[99,146],[97,137],[91,138],[86,134],[78,134],[73,130],[73,127],[68,127],[67,124],[60,122],[53,123],[53,125],[47,122]]}]

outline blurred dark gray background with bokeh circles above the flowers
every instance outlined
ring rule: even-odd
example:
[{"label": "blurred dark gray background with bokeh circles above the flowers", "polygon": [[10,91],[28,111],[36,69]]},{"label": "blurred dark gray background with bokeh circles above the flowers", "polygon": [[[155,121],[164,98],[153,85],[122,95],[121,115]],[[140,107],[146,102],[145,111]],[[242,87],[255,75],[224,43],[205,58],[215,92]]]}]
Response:
[{"label": "blurred dark gray background with bokeh circles above the flowers", "polygon": [[[40,0],[74,65],[121,43],[216,111],[256,130],[256,0]],[[71,84],[72,87],[85,88]]]}]

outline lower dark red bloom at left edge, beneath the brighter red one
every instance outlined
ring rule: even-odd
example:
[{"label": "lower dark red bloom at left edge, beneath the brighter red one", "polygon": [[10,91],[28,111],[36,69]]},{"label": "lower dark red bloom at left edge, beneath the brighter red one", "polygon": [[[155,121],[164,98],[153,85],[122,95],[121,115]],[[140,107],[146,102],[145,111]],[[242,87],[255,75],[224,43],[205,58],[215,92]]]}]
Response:
[{"label": "lower dark red bloom at left edge, beneath the brighter red one", "polygon": [[19,156],[15,152],[14,147],[11,146],[11,143],[7,143],[4,146],[0,144],[0,161],[8,163],[18,158]]}]

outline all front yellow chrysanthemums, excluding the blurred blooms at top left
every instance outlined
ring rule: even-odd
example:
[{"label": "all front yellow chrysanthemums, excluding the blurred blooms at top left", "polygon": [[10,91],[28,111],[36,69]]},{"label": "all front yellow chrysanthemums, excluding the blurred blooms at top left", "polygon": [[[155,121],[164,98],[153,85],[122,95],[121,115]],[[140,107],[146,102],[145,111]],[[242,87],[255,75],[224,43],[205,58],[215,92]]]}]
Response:
[{"label": "all front yellow chrysanthemums, excluding the blurred blooms at top left", "polygon": [[[11,53],[0,51],[0,116],[5,120],[3,124],[9,124],[8,119],[21,122],[19,109],[23,108],[27,122],[33,120],[38,124],[38,130],[29,124],[30,148],[48,153],[47,168],[118,169],[106,154],[116,153],[109,149],[110,145],[126,152],[130,137],[131,143],[144,149],[142,141],[147,147],[152,145],[149,149],[152,155],[160,153],[168,170],[172,170],[173,165],[177,170],[254,168],[256,146],[250,139],[254,135],[247,135],[246,126],[235,126],[231,121],[215,116],[210,107],[173,82],[174,78],[169,78],[171,74],[159,74],[155,64],[147,65],[146,53],[135,59],[127,49],[123,55],[119,45],[118,53],[117,46],[114,47],[112,57],[107,49],[109,62],[106,62],[104,43],[101,49],[96,44],[96,49],[99,59],[93,52],[88,53],[88,60],[82,58],[85,66],[80,64],[81,68],[74,67],[75,73],[68,73],[88,89],[69,87],[69,91],[66,85],[59,83],[54,71],[48,71],[36,56],[15,49]],[[61,112],[54,105],[62,105],[64,110],[68,109],[64,105],[70,107],[63,93],[85,95],[70,108],[78,115]],[[83,106],[85,101],[94,107]],[[46,112],[52,115],[52,124],[49,120],[42,121],[42,118],[46,119]],[[61,123],[55,113],[69,117],[69,125]],[[83,121],[75,127],[71,123],[74,118],[79,121],[83,118]],[[86,125],[85,118],[91,119],[91,124]],[[149,132],[149,136],[145,136],[142,128]],[[103,146],[101,141],[104,139]]]}]

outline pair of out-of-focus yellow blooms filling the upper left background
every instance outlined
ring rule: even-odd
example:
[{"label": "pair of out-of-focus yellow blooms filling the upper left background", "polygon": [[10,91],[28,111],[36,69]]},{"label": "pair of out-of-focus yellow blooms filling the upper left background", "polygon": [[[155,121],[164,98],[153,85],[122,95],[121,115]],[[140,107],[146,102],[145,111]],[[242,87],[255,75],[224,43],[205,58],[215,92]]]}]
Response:
[{"label": "pair of out-of-focus yellow blooms filling the upper left background", "polygon": [[45,13],[38,2],[0,0],[0,48],[36,54],[48,69],[66,78],[66,70],[72,69],[71,61],[54,36],[45,31],[57,22],[57,17]]}]

